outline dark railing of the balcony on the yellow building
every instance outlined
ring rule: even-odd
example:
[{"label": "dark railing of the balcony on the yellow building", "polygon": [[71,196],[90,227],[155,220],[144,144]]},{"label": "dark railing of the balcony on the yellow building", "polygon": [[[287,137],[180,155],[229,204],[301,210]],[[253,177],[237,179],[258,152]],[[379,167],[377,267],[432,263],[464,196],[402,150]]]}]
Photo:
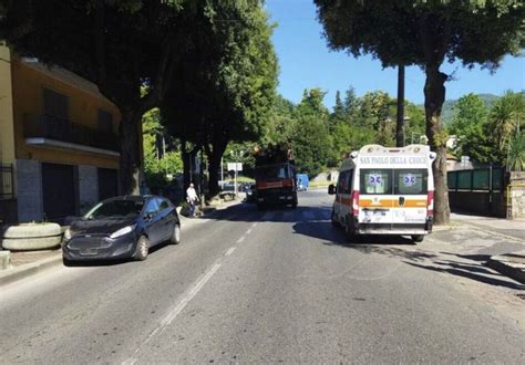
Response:
[{"label": "dark railing of the balcony on the yellow building", "polygon": [[115,134],[50,115],[24,115],[23,131],[25,138],[47,138],[119,152],[119,138]]}]

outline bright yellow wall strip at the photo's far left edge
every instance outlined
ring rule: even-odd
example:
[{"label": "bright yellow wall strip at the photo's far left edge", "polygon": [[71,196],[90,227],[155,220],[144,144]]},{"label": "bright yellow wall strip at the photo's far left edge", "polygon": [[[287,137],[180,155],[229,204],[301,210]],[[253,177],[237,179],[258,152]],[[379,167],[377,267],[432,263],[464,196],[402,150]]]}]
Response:
[{"label": "bright yellow wall strip at the photo's far left edge", "polygon": [[0,164],[14,163],[11,54],[0,44]]}]

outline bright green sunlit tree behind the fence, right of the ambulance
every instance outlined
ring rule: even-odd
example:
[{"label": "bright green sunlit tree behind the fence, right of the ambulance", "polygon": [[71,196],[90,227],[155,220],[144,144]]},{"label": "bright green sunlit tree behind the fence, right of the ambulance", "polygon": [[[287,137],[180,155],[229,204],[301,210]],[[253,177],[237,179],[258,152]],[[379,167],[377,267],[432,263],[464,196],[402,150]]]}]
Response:
[{"label": "bright green sunlit tree behind the fence, right of the ambulance", "polygon": [[494,160],[487,134],[487,109],[477,95],[471,93],[457,100],[449,132],[457,137],[456,156],[470,156],[476,163]]}]

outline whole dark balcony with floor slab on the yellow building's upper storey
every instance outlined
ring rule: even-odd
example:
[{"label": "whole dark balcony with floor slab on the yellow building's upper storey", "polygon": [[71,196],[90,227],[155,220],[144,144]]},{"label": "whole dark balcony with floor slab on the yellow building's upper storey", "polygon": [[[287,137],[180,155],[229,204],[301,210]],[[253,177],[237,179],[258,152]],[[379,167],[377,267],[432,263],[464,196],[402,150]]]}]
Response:
[{"label": "whole dark balcony with floor slab on the yellow building's upper storey", "polygon": [[119,138],[115,134],[68,119],[25,114],[23,132],[28,145],[119,156]]}]

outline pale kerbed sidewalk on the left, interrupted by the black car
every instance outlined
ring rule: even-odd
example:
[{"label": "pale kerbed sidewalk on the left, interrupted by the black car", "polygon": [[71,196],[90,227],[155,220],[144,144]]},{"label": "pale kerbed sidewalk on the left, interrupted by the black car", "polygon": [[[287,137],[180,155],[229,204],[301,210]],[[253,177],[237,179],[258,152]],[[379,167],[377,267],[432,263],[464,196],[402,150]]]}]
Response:
[{"label": "pale kerbed sidewalk on the left, interrupted by the black car", "polygon": [[[227,209],[234,205],[241,202],[240,199],[223,202],[217,206],[206,207],[203,210],[203,216],[199,218],[187,218],[179,215],[181,226],[184,229],[192,227],[199,219],[207,218],[216,210]],[[179,209],[177,209],[177,212]],[[7,252],[0,250],[0,252]],[[41,251],[12,251],[10,254],[11,268],[0,270],[0,286],[31,277],[45,269],[62,264],[62,250],[56,248],[54,250]]]}]

